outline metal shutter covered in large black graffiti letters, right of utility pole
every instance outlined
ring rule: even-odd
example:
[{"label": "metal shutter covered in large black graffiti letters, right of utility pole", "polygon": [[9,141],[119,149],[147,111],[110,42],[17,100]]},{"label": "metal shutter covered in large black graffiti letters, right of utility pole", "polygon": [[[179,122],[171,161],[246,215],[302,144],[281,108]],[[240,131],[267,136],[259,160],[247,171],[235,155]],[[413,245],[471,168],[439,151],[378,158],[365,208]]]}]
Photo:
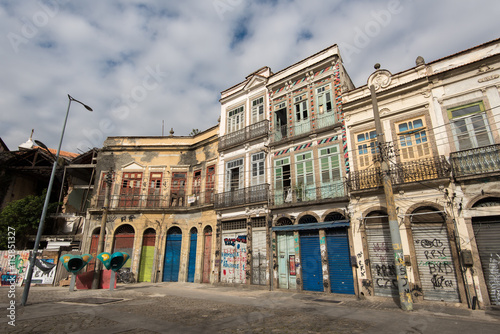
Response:
[{"label": "metal shutter covered in large black graffiti letters, right of utility pole", "polygon": [[411,230],[424,299],[460,302],[446,225],[418,223]]}]

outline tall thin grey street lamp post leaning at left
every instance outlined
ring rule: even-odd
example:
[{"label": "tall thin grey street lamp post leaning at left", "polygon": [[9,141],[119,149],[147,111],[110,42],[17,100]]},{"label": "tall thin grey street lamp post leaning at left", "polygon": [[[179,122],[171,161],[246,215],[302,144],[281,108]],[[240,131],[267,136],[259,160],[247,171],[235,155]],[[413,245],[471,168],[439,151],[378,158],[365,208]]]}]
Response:
[{"label": "tall thin grey street lamp post leaning at left", "polygon": [[88,111],[93,111],[92,108],[90,108],[88,105],[72,98],[69,94],[68,94],[68,99],[69,99],[68,109],[66,110],[66,117],[64,118],[63,129],[61,132],[61,139],[59,140],[59,147],[57,148],[57,154],[55,157],[54,165],[52,166],[52,173],[50,174],[49,186],[47,188],[47,194],[45,195],[45,203],[43,204],[42,216],[40,217],[40,223],[38,224],[38,232],[36,234],[35,245],[33,247],[33,253],[32,253],[31,258],[30,258],[30,264],[28,267],[26,282],[24,283],[23,296],[21,299],[21,305],[23,305],[23,306],[26,305],[26,302],[28,301],[28,294],[30,291],[31,278],[33,276],[33,268],[35,266],[35,261],[36,261],[36,253],[38,252],[38,246],[40,244],[40,239],[41,239],[42,233],[43,233],[43,225],[45,223],[45,216],[47,215],[47,209],[49,207],[50,193],[52,192],[52,185],[54,184],[54,179],[55,179],[55,175],[56,175],[56,168],[57,168],[57,161],[59,160],[59,153],[61,152],[61,145],[62,145],[62,140],[64,137],[64,130],[66,129],[66,122],[68,121],[69,108],[71,106],[71,102],[72,101],[78,102],[82,106],[84,106],[85,109],[87,109]]}]

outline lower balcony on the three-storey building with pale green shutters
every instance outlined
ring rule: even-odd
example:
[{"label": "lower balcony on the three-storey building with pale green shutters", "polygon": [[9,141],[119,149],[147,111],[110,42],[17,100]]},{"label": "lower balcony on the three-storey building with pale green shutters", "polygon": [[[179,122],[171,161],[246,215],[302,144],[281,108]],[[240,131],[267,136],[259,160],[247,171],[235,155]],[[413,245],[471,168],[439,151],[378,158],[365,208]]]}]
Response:
[{"label": "lower balcony on the three-storey building with pale green shutters", "polygon": [[346,184],[338,181],[320,187],[285,187],[284,189],[274,190],[273,196],[271,196],[271,205],[280,207],[312,201],[345,199],[345,197]]}]

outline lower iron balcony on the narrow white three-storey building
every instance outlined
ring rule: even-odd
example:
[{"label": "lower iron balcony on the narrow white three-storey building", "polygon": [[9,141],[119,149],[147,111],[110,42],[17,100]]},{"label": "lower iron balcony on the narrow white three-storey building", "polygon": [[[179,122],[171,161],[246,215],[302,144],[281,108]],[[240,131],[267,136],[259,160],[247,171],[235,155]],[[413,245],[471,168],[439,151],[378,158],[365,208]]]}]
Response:
[{"label": "lower iron balcony on the narrow white three-storey building", "polygon": [[253,187],[226,191],[220,194],[215,194],[214,208],[221,209],[239,205],[267,202],[268,194],[268,184],[260,184]]}]

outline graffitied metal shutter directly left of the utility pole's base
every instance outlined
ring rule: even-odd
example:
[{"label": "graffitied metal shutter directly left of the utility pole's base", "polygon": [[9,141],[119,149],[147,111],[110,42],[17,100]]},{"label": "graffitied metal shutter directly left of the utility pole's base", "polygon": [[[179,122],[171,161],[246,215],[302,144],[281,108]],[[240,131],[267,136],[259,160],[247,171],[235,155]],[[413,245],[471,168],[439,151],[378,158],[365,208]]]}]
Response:
[{"label": "graffitied metal shutter directly left of the utility pole's base", "polygon": [[399,296],[391,232],[388,227],[366,229],[375,296]]}]

